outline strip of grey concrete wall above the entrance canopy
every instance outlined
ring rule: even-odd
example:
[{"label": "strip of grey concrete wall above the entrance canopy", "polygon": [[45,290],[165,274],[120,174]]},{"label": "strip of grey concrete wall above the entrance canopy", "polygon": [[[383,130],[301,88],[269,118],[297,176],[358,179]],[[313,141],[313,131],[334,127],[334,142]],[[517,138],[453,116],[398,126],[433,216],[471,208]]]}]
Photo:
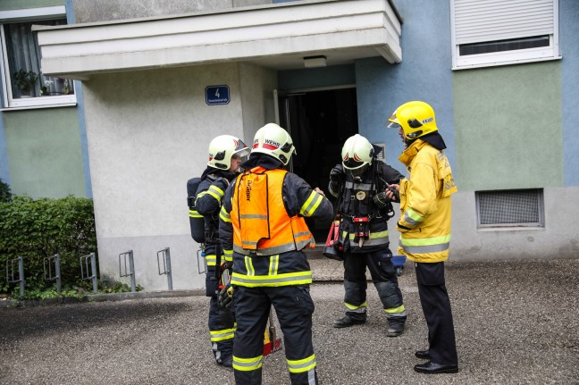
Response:
[{"label": "strip of grey concrete wall above the entrance canopy", "polygon": [[115,21],[272,4],[271,0],[73,0],[76,22]]}]

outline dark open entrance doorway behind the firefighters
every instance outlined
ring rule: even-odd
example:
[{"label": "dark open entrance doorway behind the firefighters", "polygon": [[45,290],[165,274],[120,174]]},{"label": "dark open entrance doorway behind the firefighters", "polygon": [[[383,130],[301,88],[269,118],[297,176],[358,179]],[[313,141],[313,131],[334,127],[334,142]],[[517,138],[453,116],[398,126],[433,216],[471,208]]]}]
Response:
[{"label": "dark open entrance doorway behind the firefighters", "polygon": [[[328,192],[330,171],[341,162],[341,147],[358,132],[356,88],[278,93],[280,125],[290,132],[298,155],[291,158],[291,172],[313,188]],[[330,222],[306,221],[315,241],[323,245]]]}]

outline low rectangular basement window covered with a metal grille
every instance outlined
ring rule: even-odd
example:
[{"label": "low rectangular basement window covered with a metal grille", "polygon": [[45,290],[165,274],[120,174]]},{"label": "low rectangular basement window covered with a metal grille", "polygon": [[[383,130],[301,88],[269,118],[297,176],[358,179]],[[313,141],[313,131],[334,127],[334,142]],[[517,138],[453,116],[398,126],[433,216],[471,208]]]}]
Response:
[{"label": "low rectangular basement window covered with a metal grille", "polygon": [[542,189],[477,191],[479,228],[544,227]]}]

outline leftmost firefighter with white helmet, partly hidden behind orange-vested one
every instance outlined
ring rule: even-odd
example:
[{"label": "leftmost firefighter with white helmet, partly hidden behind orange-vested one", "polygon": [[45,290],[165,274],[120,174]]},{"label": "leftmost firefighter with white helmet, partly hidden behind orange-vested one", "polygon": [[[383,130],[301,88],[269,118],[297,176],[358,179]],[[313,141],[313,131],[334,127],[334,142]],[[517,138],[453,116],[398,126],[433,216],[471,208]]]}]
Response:
[{"label": "leftmost firefighter with white helmet, partly hidden behind orange-vested one", "polygon": [[[221,135],[209,143],[209,162],[197,188],[197,212],[205,220],[206,296],[209,301],[209,332],[215,362],[225,367],[232,364],[234,316],[230,309],[218,304],[222,269],[231,270],[231,254],[223,254],[219,241],[219,212],[222,197],[235,178],[239,164],[249,154],[239,138]],[[222,264],[223,268],[222,268]]]}]

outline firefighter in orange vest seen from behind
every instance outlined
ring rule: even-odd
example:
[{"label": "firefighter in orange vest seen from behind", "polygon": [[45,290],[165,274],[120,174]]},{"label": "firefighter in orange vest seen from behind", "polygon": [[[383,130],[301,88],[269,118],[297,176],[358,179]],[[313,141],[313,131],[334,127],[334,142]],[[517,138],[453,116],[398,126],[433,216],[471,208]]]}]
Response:
[{"label": "firefighter in orange vest seen from behind", "polygon": [[284,170],[295,153],[290,134],[269,123],[257,130],[246,170],[225,192],[219,232],[233,249],[237,384],[261,384],[264,330],[273,305],[292,384],[317,383],[312,343],[312,272],[303,252],[315,245],[304,217],[333,215],[322,190]]}]

